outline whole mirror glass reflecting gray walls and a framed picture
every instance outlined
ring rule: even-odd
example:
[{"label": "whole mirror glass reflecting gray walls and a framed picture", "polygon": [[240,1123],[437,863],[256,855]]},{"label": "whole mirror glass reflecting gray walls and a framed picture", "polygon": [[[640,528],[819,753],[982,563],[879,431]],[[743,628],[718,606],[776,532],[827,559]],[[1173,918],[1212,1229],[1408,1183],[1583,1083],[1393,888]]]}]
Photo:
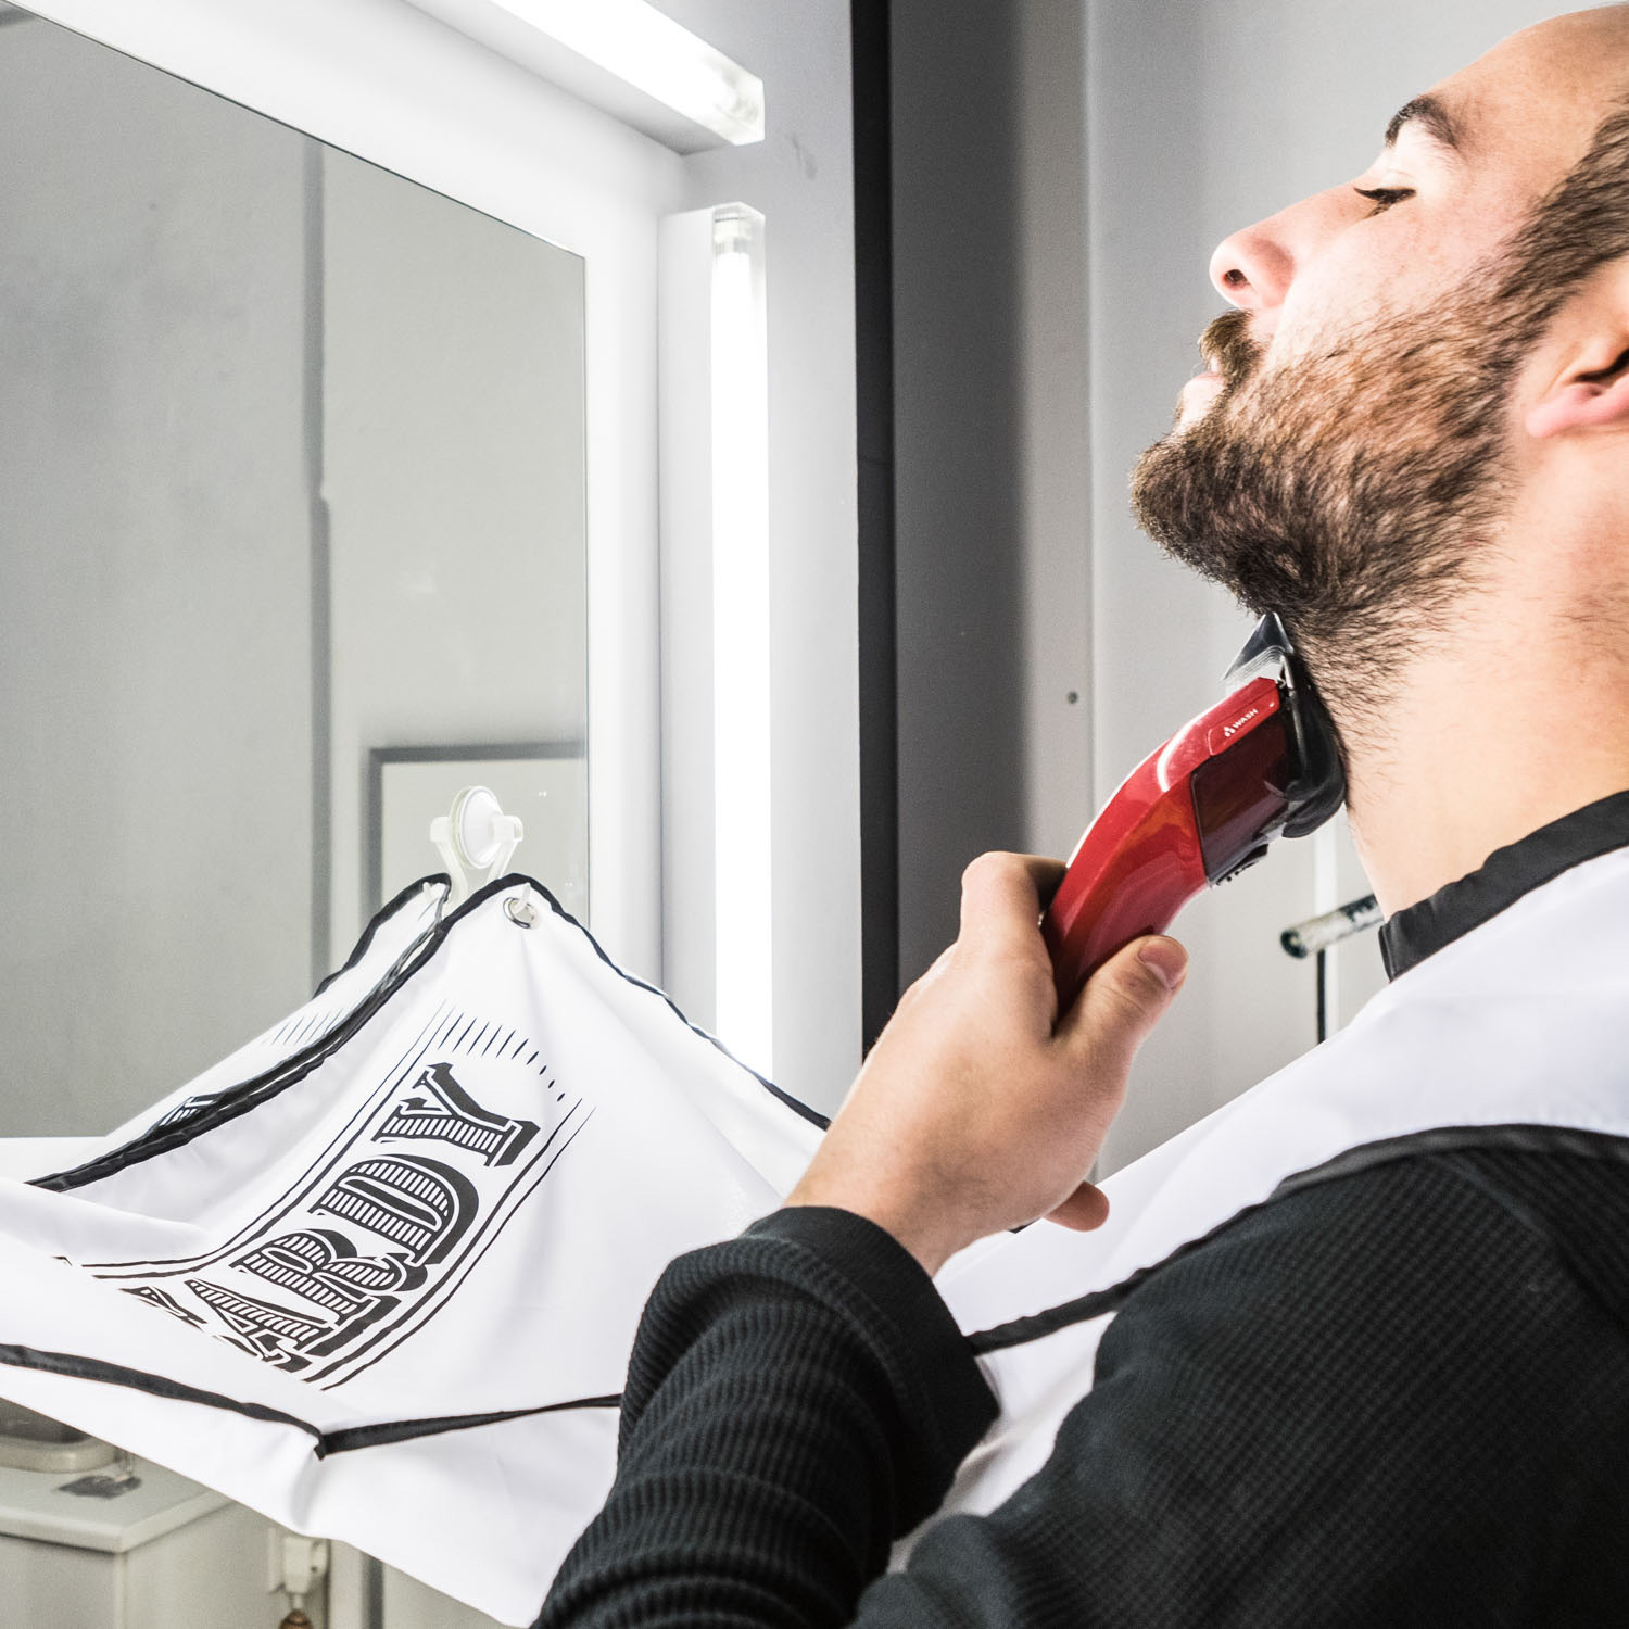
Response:
[{"label": "whole mirror glass reflecting gray walls and a framed picture", "polygon": [[380,754],[441,813],[510,766],[515,868],[585,911],[583,275],[0,24],[0,1132],[90,1134],[441,868]]}]

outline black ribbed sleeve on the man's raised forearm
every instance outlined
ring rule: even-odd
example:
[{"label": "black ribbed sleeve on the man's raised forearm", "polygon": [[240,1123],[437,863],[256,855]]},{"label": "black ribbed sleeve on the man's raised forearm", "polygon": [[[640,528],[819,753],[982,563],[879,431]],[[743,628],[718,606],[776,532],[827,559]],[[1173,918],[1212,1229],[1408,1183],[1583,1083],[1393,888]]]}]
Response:
[{"label": "black ribbed sleeve on the man's raised forearm", "polygon": [[841,1210],[779,1212],[658,1284],[616,1486],[541,1624],[847,1622],[994,1414],[893,1238]]}]

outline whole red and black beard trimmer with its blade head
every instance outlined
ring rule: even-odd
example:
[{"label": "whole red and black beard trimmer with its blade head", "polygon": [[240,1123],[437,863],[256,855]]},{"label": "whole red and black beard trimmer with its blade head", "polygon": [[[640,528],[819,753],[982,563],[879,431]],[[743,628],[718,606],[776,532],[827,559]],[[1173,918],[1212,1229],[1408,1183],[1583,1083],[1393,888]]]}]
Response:
[{"label": "whole red and black beard trimmer with its blade head", "polygon": [[1059,1013],[1122,945],[1163,933],[1194,894],[1341,808],[1334,723],[1277,616],[1261,619],[1223,684],[1225,700],[1150,753],[1070,855],[1041,919]]}]

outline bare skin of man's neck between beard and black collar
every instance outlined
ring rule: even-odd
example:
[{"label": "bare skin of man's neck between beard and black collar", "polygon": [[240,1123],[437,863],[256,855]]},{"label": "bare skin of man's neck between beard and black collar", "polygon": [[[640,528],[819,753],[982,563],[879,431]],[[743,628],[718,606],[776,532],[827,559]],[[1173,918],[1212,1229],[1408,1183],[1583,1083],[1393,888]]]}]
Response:
[{"label": "bare skin of man's neck between beard and black collar", "polygon": [[1481,629],[1521,627],[1520,643],[1478,630],[1412,661],[1383,731],[1347,740],[1352,837],[1388,915],[1629,788],[1629,666],[1531,606],[1479,609]]}]

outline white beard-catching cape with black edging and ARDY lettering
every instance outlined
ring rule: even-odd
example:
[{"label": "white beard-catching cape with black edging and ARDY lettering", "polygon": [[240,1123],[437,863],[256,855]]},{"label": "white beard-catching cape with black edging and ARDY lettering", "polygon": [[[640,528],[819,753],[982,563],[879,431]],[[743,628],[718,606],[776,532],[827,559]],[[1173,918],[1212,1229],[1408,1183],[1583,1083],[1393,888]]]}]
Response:
[{"label": "white beard-catching cape with black edging and ARDY lettering", "polygon": [[[443,896],[75,1170],[0,1181],[0,1394],[525,1624],[609,1487],[661,1267],[819,1129],[536,885]],[[1626,1031],[1618,850],[1111,1178],[1098,1233],[963,1253],[938,1282],[1002,1414],[942,1513],[1038,1469],[1127,1287],[1280,1184],[1468,1127],[1629,1137]]]}]

